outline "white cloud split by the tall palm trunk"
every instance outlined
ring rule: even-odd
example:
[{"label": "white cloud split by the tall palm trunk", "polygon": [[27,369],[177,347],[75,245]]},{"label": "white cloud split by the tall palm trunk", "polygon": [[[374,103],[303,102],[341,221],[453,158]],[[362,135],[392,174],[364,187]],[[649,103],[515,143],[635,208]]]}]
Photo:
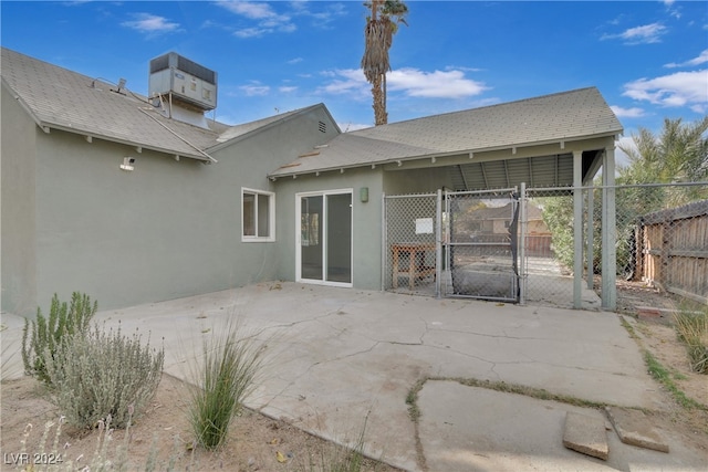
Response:
[{"label": "white cloud split by the tall palm trunk", "polygon": [[[321,87],[331,94],[356,93],[367,96],[371,84],[366,82],[361,69],[327,71],[323,73],[333,80]],[[465,77],[461,71],[425,72],[405,67],[395,70],[386,76],[388,92],[402,92],[407,96],[423,98],[461,98],[479,95],[488,90],[483,83]]]}]

